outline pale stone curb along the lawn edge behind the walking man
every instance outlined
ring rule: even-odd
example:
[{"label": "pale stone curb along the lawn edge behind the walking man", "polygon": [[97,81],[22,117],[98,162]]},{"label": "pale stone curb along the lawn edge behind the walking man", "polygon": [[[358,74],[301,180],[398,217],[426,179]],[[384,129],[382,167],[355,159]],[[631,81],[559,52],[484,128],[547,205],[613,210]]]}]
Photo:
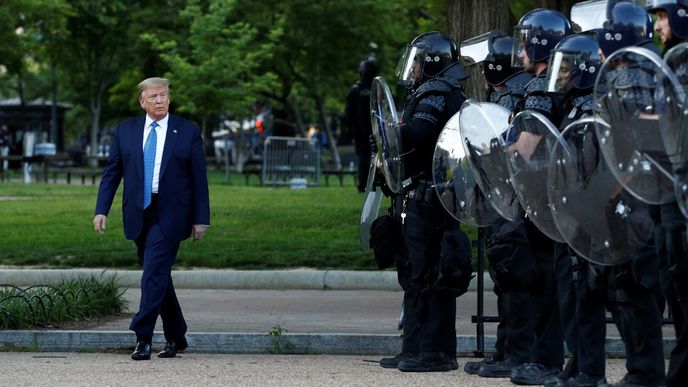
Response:
[{"label": "pale stone curb along the lawn edge behind the walking man", "polygon": [[[138,287],[141,270],[111,269],[0,269],[0,284],[33,286],[55,284],[81,276],[116,275],[120,287]],[[485,273],[485,289],[492,280]],[[391,290],[401,291],[396,271],[354,270],[173,270],[179,289],[241,290]],[[469,290],[476,290],[473,278]]]}]

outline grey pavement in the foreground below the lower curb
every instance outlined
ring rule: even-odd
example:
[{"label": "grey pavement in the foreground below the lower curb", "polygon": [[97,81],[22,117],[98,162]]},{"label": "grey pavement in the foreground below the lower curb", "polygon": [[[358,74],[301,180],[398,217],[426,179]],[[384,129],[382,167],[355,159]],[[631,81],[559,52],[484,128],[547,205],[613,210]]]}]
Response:
[{"label": "grey pavement in the foreground below the lower curb", "polygon": [[[2,386],[513,386],[461,370],[404,373],[371,356],[182,354],[134,362],[123,353],[0,353]],[[459,365],[470,359],[460,358]],[[623,377],[622,360],[607,378]]]}]

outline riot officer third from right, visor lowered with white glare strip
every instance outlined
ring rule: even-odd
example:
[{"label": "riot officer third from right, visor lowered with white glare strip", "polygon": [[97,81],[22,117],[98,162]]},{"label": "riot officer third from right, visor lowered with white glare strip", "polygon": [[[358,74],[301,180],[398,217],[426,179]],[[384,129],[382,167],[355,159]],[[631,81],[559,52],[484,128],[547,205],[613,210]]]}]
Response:
[{"label": "riot officer third from right, visor lowered with white glare strip", "polygon": [[[547,92],[563,95],[561,132],[571,123],[594,113],[592,90],[601,67],[594,32],[570,35],[554,48],[547,70]],[[576,136],[577,133],[566,133]],[[582,140],[581,140],[582,141]],[[554,256],[559,308],[571,358],[546,386],[603,386],[605,378],[606,291],[588,281],[593,263],[558,243]],[[599,269],[599,267],[597,266]]]}]

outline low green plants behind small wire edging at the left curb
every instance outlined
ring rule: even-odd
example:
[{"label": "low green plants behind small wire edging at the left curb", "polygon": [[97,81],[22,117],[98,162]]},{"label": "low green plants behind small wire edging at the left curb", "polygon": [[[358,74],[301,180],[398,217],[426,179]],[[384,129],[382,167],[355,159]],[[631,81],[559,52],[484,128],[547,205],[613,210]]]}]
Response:
[{"label": "low green plants behind small wire edging at the left curb", "polygon": [[114,275],[63,280],[55,286],[0,286],[0,329],[50,327],[122,313],[124,291]]}]

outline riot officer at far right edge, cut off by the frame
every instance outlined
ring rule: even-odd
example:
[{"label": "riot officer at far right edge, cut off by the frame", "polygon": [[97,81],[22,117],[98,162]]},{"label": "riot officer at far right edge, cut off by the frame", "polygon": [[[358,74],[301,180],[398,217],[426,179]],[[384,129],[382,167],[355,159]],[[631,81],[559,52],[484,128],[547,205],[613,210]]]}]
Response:
[{"label": "riot officer at far right edge, cut off by the frame", "polygon": [[[650,0],[647,11],[656,16],[654,29],[664,45],[664,53],[688,40],[688,2]],[[680,166],[683,167],[684,166]],[[686,220],[675,201],[660,207],[660,224],[655,243],[660,258],[662,291],[676,329],[676,346],[671,350],[667,386],[688,380],[688,246]]]}]

